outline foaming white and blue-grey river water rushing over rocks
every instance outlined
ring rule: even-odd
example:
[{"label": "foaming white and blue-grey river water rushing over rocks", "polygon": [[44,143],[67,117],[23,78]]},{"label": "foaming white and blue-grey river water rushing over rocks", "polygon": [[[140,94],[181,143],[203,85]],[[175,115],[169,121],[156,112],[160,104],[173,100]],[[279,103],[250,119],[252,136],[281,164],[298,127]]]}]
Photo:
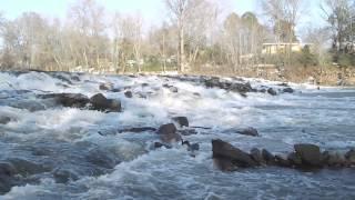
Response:
[{"label": "foaming white and blue-grey river water rushing over rocks", "polygon": [[[277,88],[276,82],[247,81],[255,88]],[[103,82],[122,91],[102,91]],[[128,87],[132,99],[124,97]],[[355,90],[292,87],[293,94],[255,92],[245,98],[171,77],[0,72],[0,117],[10,119],[0,123],[0,162],[36,164],[0,199],[354,199],[354,169],[266,167],[226,173],[213,164],[212,139],[274,153],[290,152],[298,142],[323,150],[355,147]],[[120,99],[123,111],[62,108],[38,98],[51,92],[103,93]],[[195,157],[180,144],[152,150],[159,141],[154,132],[118,132],[158,128],[176,116],[211,128],[184,137],[200,143]],[[256,128],[261,137],[229,131],[246,127]]]}]

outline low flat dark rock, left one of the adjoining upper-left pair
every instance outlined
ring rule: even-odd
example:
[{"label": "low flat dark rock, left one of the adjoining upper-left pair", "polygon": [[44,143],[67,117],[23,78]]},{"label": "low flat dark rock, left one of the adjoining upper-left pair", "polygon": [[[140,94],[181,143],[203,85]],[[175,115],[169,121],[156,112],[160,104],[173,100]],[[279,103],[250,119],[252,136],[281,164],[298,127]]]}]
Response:
[{"label": "low flat dark rock, left one of the adjoining upper-left pair", "polygon": [[41,94],[42,99],[54,99],[58,104],[70,108],[84,108],[89,103],[89,98],[81,93],[50,93]]}]

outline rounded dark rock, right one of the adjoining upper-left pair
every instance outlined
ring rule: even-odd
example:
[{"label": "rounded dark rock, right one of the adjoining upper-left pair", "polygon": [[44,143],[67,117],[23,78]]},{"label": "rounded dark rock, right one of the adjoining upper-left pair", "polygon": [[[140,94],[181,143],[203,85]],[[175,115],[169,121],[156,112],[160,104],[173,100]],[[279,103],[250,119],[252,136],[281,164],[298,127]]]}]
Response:
[{"label": "rounded dark rock, right one of the adjoining upper-left pair", "polygon": [[114,99],[106,99],[102,93],[90,98],[91,109],[108,112],[120,112],[121,102]]}]

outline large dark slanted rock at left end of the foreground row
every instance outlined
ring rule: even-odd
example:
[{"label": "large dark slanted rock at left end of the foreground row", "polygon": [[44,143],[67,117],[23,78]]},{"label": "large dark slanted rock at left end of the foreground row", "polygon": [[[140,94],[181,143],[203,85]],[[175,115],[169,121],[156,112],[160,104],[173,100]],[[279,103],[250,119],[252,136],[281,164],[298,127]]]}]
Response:
[{"label": "large dark slanted rock at left end of the foreground row", "polygon": [[255,167],[257,163],[251,156],[222,140],[212,140],[212,152],[215,159],[230,160],[236,167]]}]

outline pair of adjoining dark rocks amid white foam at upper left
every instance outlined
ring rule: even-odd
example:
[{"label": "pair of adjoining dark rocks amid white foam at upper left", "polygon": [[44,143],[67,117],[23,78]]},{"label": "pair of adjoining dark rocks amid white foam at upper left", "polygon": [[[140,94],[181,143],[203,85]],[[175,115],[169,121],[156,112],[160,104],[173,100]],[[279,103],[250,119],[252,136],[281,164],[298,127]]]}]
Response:
[{"label": "pair of adjoining dark rocks amid white foam at upper left", "polygon": [[69,108],[88,108],[90,110],[120,112],[121,101],[116,99],[108,99],[102,93],[98,93],[88,98],[81,93],[50,93],[38,96],[41,99],[52,99],[55,103]]}]

